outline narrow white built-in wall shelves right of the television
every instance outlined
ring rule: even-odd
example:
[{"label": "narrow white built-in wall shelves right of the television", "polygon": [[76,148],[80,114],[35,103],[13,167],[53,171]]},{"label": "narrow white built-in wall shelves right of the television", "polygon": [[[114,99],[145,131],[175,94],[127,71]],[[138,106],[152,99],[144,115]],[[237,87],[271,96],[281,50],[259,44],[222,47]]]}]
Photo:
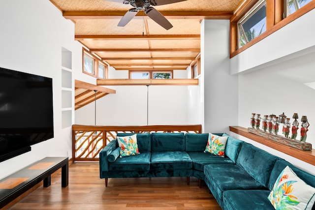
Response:
[{"label": "narrow white built-in wall shelves right of the television", "polygon": [[62,47],[62,128],[72,125],[72,52]]}]

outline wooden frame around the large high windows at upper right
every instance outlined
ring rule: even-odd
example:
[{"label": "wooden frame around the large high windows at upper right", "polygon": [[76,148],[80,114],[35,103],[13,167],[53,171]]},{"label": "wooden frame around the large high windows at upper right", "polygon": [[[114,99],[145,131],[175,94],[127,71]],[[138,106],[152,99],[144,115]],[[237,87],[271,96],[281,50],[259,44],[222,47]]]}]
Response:
[{"label": "wooden frame around the large high windows at upper right", "polygon": [[266,31],[254,38],[252,41],[245,44],[243,47],[237,49],[238,43],[238,29],[237,23],[243,16],[251,10],[251,8],[258,2],[258,0],[246,1],[230,19],[230,58],[238,55],[255,43],[261,41],[273,32],[283,28],[295,19],[301,17],[307,12],[315,8],[315,0],[309,2],[305,6],[298,9],[291,15],[283,18],[284,14],[284,0],[266,0],[267,14],[266,14]]}]

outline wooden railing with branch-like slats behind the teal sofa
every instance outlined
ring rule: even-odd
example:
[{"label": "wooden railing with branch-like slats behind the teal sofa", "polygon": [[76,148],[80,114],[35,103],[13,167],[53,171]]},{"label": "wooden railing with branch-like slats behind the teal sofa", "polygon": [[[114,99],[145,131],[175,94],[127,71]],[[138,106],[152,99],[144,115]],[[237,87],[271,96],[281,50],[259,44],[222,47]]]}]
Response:
[{"label": "wooden railing with branch-like slats behind the teal sofa", "polygon": [[72,160],[98,161],[99,152],[117,133],[201,133],[201,125],[72,125]]}]

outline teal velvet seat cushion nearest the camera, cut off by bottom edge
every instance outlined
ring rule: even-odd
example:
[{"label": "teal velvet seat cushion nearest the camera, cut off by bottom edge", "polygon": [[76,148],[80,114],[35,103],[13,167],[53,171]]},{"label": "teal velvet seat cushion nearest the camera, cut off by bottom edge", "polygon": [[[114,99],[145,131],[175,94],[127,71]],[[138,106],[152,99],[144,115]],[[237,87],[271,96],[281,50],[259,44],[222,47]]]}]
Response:
[{"label": "teal velvet seat cushion nearest the camera, cut off by bottom edge", "polygon": [[267,199],[270,190],[227,190],[223,192],[225,210],[275,210]]}]

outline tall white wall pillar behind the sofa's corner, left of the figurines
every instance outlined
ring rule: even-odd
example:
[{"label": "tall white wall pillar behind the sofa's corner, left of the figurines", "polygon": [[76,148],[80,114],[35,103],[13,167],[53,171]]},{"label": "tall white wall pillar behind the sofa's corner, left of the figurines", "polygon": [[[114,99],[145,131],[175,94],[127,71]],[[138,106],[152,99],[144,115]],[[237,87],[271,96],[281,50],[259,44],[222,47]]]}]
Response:
[{"label": "tall white wall pillar behind the sofa's corner, left of the figurines", "polygon": [[204,20],[201,27],[204,132],[228,132],[238,122],[238,78],[230,75],[229,21]]}]

